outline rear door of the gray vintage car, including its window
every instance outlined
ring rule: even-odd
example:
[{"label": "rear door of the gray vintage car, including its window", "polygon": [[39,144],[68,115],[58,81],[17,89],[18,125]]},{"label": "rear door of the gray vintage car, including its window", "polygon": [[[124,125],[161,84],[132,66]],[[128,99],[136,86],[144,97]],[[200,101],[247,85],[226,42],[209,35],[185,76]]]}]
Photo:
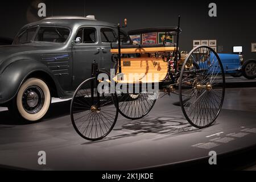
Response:
[{"label": "rear door of the gray vintage car, including its window", "polygon": [[101,63],[102,68],[110,71],[114,67],[114,62],[112,61],[112,53],[110,53],[111,45],[117,46],[117,34],[112,27],[99,27],[100,30],[100,40],[101,40]]}]

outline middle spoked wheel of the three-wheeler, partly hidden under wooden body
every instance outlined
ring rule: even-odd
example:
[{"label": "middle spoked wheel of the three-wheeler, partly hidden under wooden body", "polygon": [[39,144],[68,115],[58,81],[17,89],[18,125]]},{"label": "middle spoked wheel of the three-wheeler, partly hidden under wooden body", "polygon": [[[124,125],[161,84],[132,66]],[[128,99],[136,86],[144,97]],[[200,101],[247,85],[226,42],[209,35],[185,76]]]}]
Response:
[{"label": "middle spoked wheel of the three-wheeler, partly hidden under wooden body", "polygon": [[147,91],[140,93],[118,94],[119,113],[127,119],[141,119],[147,115],[156,102],[156,93]]}]

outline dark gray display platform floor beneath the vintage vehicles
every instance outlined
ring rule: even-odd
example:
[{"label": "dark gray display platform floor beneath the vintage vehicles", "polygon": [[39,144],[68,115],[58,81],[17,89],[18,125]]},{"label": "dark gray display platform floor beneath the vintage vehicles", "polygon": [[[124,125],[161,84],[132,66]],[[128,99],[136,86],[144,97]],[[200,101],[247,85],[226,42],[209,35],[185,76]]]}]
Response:
[{"label": "dark gray display platform floor beneath the vintage vehicles", "polygon": [[[185,120],[171,94],[156,101],[144,118],[135,121],[120,114],[114,130],[90,142],[76,133],[69,116],[70,101],[57,102],[41,122],[20,123],[0,112],[0,168],[39,170],[151,169],[208,163],[209,151],[218,156],[256,146],[256,88],[226,89],[216,123],[196,129]],[[45,151],[47,164],[38,164]]]}]

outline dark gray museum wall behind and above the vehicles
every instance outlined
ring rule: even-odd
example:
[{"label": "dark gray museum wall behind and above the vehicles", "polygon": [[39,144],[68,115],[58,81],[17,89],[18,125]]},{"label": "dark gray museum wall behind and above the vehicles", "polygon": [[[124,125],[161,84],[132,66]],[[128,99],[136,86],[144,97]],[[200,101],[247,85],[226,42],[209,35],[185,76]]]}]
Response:
[{"label": "dark gray museum wall behind and above the vehicles", "polygon": [[[256,53],[251,52],[251,43],[256,42],[256,3],[253,1],[38,1],[46,3],[47,16],[93,14],[99,20],[113,23],[127,18],[126,30],[176,26],[180,14],[180,49],[191,50],[195,39],[217,39],[217,46],[223,46],[223,52],[230,53],[233,46],[243,46],[245,58],[256,59]],[[208,16],[210,2],[217,3],[216,18]],[[27,18],[32,0],[1,3],[0,36],[13,37],[28,19],[32,19]]]}]

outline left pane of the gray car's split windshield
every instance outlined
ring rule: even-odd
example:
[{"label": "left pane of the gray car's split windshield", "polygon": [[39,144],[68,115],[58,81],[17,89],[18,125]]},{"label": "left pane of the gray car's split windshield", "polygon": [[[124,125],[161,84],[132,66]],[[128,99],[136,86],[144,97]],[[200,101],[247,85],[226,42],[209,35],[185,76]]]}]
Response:
[{"label": "left pane of the gray car's split windshield", "polygon": [[22,44],[22,43],[31,42],[32,39],[34,38],[37,28],[38,27],[32,27],[32,28],[27,28],[27,29],[21,31],[21,33],[15,39],[14,44]]}]

